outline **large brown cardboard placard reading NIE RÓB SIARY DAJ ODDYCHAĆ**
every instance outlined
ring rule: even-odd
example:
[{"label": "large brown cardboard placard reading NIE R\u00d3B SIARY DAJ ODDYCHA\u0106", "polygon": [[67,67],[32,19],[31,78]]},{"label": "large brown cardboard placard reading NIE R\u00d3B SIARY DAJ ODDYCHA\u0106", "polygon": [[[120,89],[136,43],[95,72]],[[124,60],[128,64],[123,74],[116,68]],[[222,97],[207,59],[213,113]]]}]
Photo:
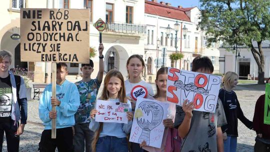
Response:
[{"label": "large brown cardboard placard reading NIE R\u00d3B SIARY DAJ ODDYCHA\u0106", "polygon": [[20,9],[21,61],[89,63],[89,9]]}]

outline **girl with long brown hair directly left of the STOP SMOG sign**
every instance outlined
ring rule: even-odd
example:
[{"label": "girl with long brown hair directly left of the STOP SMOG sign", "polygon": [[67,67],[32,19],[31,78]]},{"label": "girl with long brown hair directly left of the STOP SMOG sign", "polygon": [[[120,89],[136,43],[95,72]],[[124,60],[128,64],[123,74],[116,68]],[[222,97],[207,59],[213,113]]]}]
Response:
[{"label": "girl with long brown hair directly left of the STOP SMOG sign", "polygon": [[[169,103],[168,107],[168,113],[167,113],[167,118],[163,119],[163,124],[165,126],[164,128],[164,134],[161,142],[161,147],[156,148],[152,146],[147,146],[146,142],[143,141],[140,145],[143,149],[149,151],[149,152],[156,152],[156,151],[174,151],[174,149],[171,149],[171,147],[166,147],[168,144],[166,144],[168,141],[173,138],[172,136],[168,136],[168,130],[173,129],[174,125],[174,117],[175,117],[175,104],[172,102],[168,102],[166,100],[166,91],[167,91],[167,72],[168,72],[168,67],[161,67],[157,72],[156,72],[156,79],[155,79],[155,84],[156,84],[156,94],[153,96],[154,99],[161,101],[161,102],[167,102]],[[168,138],[167,138],[168,137]]]}]

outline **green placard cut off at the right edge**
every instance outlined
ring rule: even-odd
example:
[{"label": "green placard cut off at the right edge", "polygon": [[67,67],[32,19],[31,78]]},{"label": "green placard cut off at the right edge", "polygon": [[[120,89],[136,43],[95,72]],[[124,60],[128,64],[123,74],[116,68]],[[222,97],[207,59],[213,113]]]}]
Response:
[{"label": "green placard cut off at the right edge", "polygon": [[266,83],[265,85],[263,123],[270,124],[270,83]]}]

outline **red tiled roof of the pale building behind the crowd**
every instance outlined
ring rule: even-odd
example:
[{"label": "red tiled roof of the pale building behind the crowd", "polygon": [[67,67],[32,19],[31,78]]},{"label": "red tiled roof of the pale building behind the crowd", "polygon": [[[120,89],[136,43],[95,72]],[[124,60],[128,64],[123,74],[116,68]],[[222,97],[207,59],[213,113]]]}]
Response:
[{"label": "red tiled roof of the pale building behind the crowd", "polygon": [[190,18],[185,13],[185,11],[190,9],[192,8],[178,8],[145,0],[144,12],[168,18],[190,21]]}]

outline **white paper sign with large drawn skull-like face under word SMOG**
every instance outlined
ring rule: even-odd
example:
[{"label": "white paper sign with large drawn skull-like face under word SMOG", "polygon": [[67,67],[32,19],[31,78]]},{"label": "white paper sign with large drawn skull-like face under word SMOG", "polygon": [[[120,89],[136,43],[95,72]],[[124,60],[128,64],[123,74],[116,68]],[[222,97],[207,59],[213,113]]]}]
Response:
[{"label": "white paper sign with large drawn skull-like face under word SMOG", "polygon": [[138,97],[132,122],[129,141],[160,148],[168,103]]}]

